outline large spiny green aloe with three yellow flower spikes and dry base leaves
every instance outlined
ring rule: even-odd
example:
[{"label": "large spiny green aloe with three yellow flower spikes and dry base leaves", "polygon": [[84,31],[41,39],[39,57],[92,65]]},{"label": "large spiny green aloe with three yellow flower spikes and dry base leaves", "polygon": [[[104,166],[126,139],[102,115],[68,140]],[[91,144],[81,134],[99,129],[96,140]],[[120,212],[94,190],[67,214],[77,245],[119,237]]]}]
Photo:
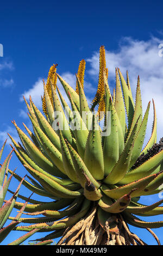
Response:
[{"label": "large spiny green aloe with three yellow flower spikes and dry base leaves", "polygon": [[[24,98],[33,131],[24,125],[27,136],[12,121],[22,145],[9,135],[15,148],[11,147],[31,175],[31,183],[24,179],[23,184],[36,194],[51,198],[51,202],[30,200],[24,209],[24,214],[30,217],[20,218],[28,225],[17,226],[15,230],[51,231],[37,240],[61,237],[58,245],[145,245],[130,232],[131,224],[147,229],[160,244],[151,229],[162,227],[163,222],[147,222],[137,217],[163,213],[163,200],[152,205],[138,202],[141,196],[161,191],[163,150],[162,140],[156,143],[154,100],[152,135],[143,147],[151,102],[143,115],[140,78],[134,101],[128,72],[126,81],[120,69],[116,69],[112,95],[105,49],[101,46],[98,88],[89,106],[84,93],[84,72],[82,60],[74,90],[57,73],[57,64],[53,65],[47,83],[43,81],[44,114],[31,97],[29,103]],[[57,80],[70,102],[62,96]],[[102,118],[104,129],[99,125]],[[14,207],[21,209],[22,203],[15,202]]]}]

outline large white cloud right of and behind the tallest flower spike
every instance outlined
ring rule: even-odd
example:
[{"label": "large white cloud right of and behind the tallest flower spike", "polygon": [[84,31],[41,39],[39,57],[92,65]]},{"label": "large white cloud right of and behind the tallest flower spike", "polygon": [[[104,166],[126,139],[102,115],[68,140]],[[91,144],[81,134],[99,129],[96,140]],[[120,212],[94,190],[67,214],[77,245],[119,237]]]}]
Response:
[{"label": "large white cloud right of and behind the tallest flower spike", "polygon": [[[163,40],[162,40],[163,41]],[[158,117],[158,139],[163,136],[163,57],[159,57],[158,48],[161,40],[151,38],[148,41],[134,40],[124,38],[117,51],[108,51],[106,49],[106,65],[109,70],[109,84],[115,87],[115,68],[120,68],[123,76],[126,78],[126,70],[129,72],[131,89],[136,92],[137,76],[140,75],[140,86],[142,92],[143,111],[145,112],[147,104],[154,99],[156,113]],[[98,77],[99,53],[95,52],[92,57],[87,59],[90,63],[88,71],[93,78]],[[149,113],[148,137],[151,135],[153,121],[153,106]]]}]

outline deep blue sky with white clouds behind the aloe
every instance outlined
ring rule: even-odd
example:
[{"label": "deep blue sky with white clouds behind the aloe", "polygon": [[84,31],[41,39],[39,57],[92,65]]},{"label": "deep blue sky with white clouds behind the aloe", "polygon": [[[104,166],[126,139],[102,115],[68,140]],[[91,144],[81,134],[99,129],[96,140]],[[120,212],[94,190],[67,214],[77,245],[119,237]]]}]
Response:
[{"label": "deep blue sky with white clouds behind the aloe", "polygon": [[[12,119],[15,119],[22,130],[22,122],[31,127],[22,95],[27,99],[29,94],[32,95],[36,106],[41,107],[42,78],[46,79],[53,63],[58,63],[58,73],[74,86],[74,75],[80,60],[84,58],[85,91],[91,101],[97,88],[98,51],[101,45],[104,45],[106,50],[111,88],[115,86],[116,66],[124,76],[128,69],[134,92],[137,75],[140,75],[143,111],[148,101],[154,98],[158,113],[158,139],[162,137],[163,57],[158,54],[158,46],[163,43],[162,7],[163,3],[157,0],[150,3],[92,0],[81,3],[49,0],[1,2],[1,145],[8,137],[7,132],[18,139],[11,124]],[[151,107],[146,142],[151,135],[152,118]],[[3,159],[9,151],[10,146],[7,145]],[[19,175],[26,174],[26,170],[13,155],[10,168],[15,167]],[[14,179],[12,181],[14,190],[18,184]],[[30,194],[24,188],[21,188],[21,193]],[[159,200],[158,196],[149,197],[146,202],[151,204],[155,200]],[[161,220],[161,217],[156,219]],[[154,231],[163,243],[162,230],[161,228]],[[155,244],[152,235],[146,230],[133,228],[133,231],[149,244]],[[20,236],[20,233],[17,235],[17,232],[13,231],[4,244],[11,242],[16,236]]]}]

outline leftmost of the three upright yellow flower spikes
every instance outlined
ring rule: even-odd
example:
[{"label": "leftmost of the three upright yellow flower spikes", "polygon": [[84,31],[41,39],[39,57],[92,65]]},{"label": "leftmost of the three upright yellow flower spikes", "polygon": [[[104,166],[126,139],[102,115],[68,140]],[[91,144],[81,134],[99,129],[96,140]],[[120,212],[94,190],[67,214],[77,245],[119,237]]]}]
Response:
[{"label": "leftmost of the three upright yellow flower spikes", "polygon": [[[46,83],[47,92],[48,92],[49,98],[51,99],[52,105],[53,105],[53,96],[52,96],[51,84],[54,86],[54,88],[56,88],[57,75],[55,74],[55,72],[57,71],[57,68],[56,68],[57,65],[58,64],[55,64],[55,65],[53,64],[53,66],[51,66],[51,68],[49,69],[47,83]],[[44,80],[43,80],[43,83],[45,84]],[[42,110],[43,110],[43,113],[45,113],[45,115],[47,116],[45,94],[42,97]]]}]

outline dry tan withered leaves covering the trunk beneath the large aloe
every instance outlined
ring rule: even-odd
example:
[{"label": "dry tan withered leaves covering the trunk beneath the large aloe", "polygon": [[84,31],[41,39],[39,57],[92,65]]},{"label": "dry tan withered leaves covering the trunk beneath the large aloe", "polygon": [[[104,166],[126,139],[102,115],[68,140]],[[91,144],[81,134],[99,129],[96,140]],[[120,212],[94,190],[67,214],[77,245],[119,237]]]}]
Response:
[{"label": "dry tan withered leaves covering the trunk beneath the large aloe", "polygon": [[[102,227],[97,217],[97,207],[95,206],[76,225],[67,228],[57,245],[147,245],[137,235],[130,232],[120,214],[112,215],[114,227],[109,226],[110,218],[105,222],[105,227]],[[148,231],[160,244],[153,231],[151,229]]]}]

